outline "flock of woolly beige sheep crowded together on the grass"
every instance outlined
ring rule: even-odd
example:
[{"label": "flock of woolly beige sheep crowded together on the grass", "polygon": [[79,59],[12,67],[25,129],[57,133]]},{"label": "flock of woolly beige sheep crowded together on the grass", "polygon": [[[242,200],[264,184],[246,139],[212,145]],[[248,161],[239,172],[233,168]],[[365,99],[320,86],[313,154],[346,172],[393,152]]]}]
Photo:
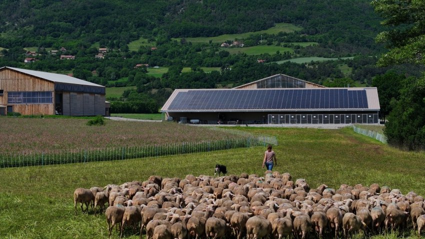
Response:
[{"label": "flock of woolly beige sheep crowded together on the grass", "polygon": [[[346,238],[403,230],[410,225],[418,236],[425,224],[425,202],[414,192],[357,184],[310,189],[305,179],[292,180],[289,173],[180,178],[150,176],[146,181],[109,184],[103,188],[77,188],[74,208],[102,212],[105,204],[109,236],[126,226],[143,231],[146,239],[183,238],[279,238],[295,235]],[[85,209],[83,209],[85,204]]]}]

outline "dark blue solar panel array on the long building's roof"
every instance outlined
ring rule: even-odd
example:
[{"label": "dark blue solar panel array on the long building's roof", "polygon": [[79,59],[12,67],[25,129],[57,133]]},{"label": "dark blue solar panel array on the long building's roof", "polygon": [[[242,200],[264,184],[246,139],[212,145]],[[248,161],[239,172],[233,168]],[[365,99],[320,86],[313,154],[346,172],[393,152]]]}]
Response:
[{"label": "dark blue solar panel array on the long building's roof", "polygon": [[364,89],[204,89],[179,91],[168,110],[367,108]]}]

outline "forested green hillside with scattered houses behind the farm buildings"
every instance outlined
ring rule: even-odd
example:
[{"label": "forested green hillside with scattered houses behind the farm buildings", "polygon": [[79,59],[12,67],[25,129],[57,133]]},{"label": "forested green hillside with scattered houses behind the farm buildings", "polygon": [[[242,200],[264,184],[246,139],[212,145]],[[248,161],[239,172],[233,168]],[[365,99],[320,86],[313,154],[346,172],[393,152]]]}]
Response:
[{"label": "forested green hillside with scattered houses behind the farm buildings", "polygon": [[[374,66],[385,49],[374,42],[383,29],[369,0],[8,0],[0,9],[0,66],[126,86],[106,97],[153,110],[174,88],[232,87],[276,73],[370,85],[388,69]],[[207,38],[220,35],[223,42]],[[282,63],[311,56],[350,58]]]}]

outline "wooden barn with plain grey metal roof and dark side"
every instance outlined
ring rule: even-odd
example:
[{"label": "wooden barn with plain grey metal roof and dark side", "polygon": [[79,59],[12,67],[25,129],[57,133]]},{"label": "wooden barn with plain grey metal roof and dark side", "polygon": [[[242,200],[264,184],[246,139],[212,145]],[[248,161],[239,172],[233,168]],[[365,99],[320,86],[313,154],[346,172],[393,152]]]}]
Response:
[{"label": "wooden barn with plain grey metal roof and dark side", "polygon": [[105,87],[64,74],[0,68],[0,115],[104,115]]}]

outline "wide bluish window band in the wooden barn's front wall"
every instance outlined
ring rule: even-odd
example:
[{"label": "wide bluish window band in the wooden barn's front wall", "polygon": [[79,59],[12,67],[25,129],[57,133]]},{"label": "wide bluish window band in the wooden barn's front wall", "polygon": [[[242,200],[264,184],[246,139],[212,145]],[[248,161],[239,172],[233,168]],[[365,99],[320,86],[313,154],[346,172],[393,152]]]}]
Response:
[{"label": "wide bluish window band in the wooden barn's front wall", "polygon": [[53,103],[53,97],[51,91],[9,91],[7,103]]}]

